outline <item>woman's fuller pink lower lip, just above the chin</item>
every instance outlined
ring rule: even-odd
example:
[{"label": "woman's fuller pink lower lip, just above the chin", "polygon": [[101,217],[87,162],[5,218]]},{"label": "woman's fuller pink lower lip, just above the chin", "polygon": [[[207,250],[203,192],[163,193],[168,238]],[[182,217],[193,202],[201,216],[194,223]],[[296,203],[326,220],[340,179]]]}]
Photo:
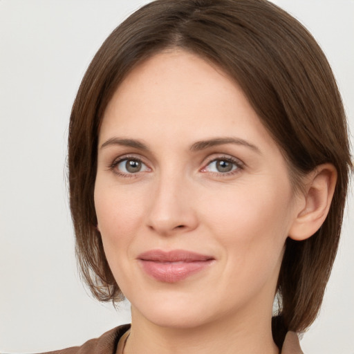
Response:
[{"label": "woman's fuller pink lower lip, just above the chin", "polygon": [[142,268],[151,277],[165,283],[176,283],[186,279],[187,277],[201,272],[213,262],[212,259],[207,261],[191,261],[191,262],[158,262],[140,260]]}]

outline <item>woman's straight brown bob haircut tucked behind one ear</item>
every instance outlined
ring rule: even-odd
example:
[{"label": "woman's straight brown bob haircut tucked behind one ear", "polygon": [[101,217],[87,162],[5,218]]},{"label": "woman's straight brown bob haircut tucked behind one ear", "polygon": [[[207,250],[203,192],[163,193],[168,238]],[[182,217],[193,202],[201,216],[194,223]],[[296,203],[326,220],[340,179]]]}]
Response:
[{"label": "woman's straight brown bob haircut tucked behind one ear", "polygon": [[[295,193],[325,162],[338,180],[326,221],[305,241],[286,241],[277,284],[274,341],[317,316],[337,252],[351,156],[342,100],[326,57],[299,22],[265,0],[157,0],[104,41],[71,112],[68,179],[82,277],[100,301],[123,298],[104,255],[93,201],[97,140],[118,85],[143,60],[182,48],[219,66],[248,97],[287,161]],[[176,108],[177,109],[177,108]],[[275,295],[275,294],[274,294]]]}]

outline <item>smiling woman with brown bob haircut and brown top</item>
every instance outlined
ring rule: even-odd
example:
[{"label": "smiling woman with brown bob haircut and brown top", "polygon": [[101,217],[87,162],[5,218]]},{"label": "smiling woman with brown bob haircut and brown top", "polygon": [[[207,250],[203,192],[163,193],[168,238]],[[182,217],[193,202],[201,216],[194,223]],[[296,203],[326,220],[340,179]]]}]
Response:
[{"label": "smiling woman with brown bob haircut and brown top", "polygon": [[260,0],[141,8],[84,76],[68,165],[84,279],[127,297],[132,323],[60,353],[301,353],[351,160],[333,74],[295,19]]}]

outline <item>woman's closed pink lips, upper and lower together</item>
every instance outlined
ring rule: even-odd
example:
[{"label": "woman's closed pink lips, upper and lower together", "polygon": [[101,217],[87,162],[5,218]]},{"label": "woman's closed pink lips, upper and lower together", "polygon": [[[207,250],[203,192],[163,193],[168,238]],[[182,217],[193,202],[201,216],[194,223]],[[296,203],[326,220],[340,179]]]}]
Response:
[{"label": "woman's closed pink lips, upper and lower together", "polygon": [[186,250],[150,250],[137,257],[142,269],[154,279],[176,283],[208,268],[215,259],[206,254]]}]

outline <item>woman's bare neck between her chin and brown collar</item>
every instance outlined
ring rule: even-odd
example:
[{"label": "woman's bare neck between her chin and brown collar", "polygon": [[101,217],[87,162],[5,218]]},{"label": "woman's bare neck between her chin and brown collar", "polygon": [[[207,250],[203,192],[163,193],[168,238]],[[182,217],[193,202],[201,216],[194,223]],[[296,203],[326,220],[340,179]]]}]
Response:
[{"label": "woman's bare neck between her chin and brown collar", "polygon": [[235,321],[224,316],[222,321],[194,328],[175,328],[153,324],[133,308],[124,354],[278,354],[270,321],[269,317]]}]

